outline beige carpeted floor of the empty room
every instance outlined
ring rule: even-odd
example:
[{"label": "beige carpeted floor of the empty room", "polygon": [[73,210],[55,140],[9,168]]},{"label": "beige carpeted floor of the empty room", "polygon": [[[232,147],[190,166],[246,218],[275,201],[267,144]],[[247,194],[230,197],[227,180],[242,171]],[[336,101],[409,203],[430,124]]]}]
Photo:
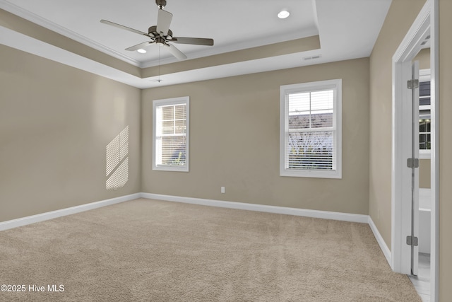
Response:
[{"label": "beige carpeted floor of the empty room", "polygon": [[1,284],[25,291],[0,301],[421,301],[367,224],[150,199],[1,231]]}]

